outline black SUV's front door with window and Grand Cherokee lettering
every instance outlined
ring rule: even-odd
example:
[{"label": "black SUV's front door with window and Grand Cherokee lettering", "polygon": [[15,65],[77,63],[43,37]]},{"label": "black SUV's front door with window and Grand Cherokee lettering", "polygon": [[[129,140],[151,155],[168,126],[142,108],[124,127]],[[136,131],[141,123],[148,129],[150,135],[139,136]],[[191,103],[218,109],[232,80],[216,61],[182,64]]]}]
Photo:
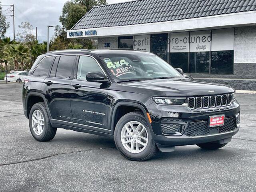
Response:
[{"label": "black SUV's front door with window and Grand Cherokee lettering", "polygon": [[[86,81],[86,73],[102,72],[91,56],[80,56],[77,76],[71,82],[70,100],[74,127],[108,133],[107,94],[102,83]],[[74,87],[73,87],[74,86]]]}]

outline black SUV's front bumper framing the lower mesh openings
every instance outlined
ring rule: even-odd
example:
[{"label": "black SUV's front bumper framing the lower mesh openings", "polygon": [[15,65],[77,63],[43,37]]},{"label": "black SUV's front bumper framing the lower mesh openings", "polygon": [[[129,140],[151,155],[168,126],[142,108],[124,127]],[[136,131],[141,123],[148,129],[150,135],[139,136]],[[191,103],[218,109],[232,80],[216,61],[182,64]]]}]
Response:
[{"label": "black SUV's front bumper framing the lower mesh openings", "polygon": [[[236,114],[240,112],[240,106],[236,101],[233,102],[232,108],[229,110],[212,112],[191,112],[186,106],[167,106],[155,103],[148,105],[147,109],[152,119],[151,135],[157,144],[163,146],[183,146],[225,140],[234,136],[239,130],[239,124],[236,122]],[[222,114],[234,120],[234,127],[230,130],[220,132],[218,129],[210,128],[212,130],[208,134],[189,135],[186,133],[186,128],[188,128],[190,122],[207,122],[209,116]],[[164,134],[161,119],[166,118],[170,118],[174,123],[180,124],[182,129],[176,132],[176,134]]]}]

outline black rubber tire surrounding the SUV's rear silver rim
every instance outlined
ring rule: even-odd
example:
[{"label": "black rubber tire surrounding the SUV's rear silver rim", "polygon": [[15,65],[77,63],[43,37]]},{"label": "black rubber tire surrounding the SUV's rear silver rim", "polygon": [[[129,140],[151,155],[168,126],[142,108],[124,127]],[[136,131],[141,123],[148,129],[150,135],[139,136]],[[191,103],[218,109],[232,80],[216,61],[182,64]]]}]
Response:
[{"label": "black rubber tire surrounding the SUV's rear silver rim", "polygon": [[[33,128],[32,128],[32,114],[35,110],[40,110],[44,116],[44,128],[43,132],[40,135],[36,135]],[[29,113],[29,128],[32,136],[37,141],[50,141],[54,138],[57,128],[52,127],[50,123],[50,118],[44,103],[36,103],[32,106],[30,113]]]}]

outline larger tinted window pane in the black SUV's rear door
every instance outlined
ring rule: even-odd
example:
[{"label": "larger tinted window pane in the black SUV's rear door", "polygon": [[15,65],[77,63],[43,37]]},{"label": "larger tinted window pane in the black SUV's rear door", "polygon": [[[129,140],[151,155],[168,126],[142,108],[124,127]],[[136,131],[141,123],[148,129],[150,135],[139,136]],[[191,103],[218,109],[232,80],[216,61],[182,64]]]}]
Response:
[{"label": "larger tinted window pane in the black SUV's rear door", "polygon": [[76,56],[61,56],[56,71],[56,77],[71,78],[75,58]]}]

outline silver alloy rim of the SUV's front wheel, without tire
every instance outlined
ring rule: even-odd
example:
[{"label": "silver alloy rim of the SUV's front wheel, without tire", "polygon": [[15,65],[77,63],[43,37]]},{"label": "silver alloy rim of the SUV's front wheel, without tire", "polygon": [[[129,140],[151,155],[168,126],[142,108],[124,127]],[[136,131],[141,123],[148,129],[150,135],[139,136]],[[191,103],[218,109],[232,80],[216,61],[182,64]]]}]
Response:
[{"label": "silver alloy rim of the SUV's front wheel, without tire", "polygon": [[122,128],[121,141],[128,152],[140,153],[148,144],[148,131],[142,123],[130,121]]}]

